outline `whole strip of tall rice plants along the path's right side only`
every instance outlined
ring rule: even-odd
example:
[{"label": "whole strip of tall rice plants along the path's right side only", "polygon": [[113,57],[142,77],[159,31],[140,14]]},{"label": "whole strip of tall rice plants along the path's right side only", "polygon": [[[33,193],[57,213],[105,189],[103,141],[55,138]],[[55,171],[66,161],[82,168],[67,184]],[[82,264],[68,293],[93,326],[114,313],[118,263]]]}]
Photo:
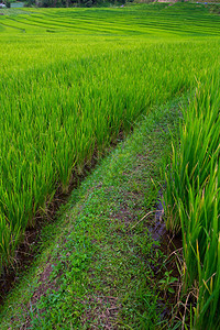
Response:
[{"label": "whole strip of tall rice plants along the path's right side only", "polygon": [[207,74],[184,111],[180,145],[173,148],[167,170],[167,228],[182,229],[184,288],[196,289],[196,329],[220,322],[220,168],[219,70]]}]

